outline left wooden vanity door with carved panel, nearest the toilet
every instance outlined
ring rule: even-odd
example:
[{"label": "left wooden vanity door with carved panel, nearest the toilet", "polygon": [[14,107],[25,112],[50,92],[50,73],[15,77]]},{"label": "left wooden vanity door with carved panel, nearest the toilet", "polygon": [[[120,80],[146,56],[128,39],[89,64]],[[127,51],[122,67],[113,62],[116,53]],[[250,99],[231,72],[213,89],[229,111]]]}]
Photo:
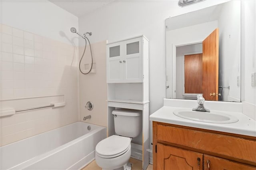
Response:
[{"label": "left wooden vanity door with carved panel, nearest the toilet", "polygon": [[202,170],[203,154],[157,144],[157,170]]}]

